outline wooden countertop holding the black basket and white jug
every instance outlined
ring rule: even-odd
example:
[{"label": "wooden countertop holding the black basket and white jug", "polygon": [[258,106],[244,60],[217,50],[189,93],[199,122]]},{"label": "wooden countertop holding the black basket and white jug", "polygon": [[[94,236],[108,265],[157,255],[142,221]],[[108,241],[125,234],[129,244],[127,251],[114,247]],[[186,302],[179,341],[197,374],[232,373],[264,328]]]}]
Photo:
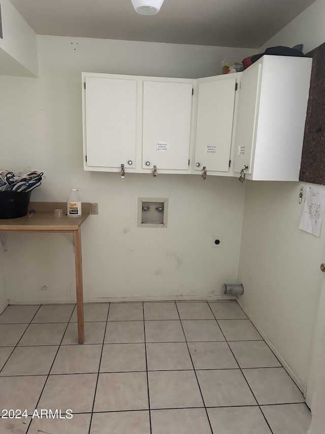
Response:
[{"label": "wooden countertop holding the black basket and white jug", "polygon": [[[53,217],[53,211],[61,209],[63,217]],[[72,232],[90,215],[90,203],[82,202],[81,217],[67,216],[67,202],[30,202],[28,211],[35,213],[28,217],[0,219],[0,232]]]}]

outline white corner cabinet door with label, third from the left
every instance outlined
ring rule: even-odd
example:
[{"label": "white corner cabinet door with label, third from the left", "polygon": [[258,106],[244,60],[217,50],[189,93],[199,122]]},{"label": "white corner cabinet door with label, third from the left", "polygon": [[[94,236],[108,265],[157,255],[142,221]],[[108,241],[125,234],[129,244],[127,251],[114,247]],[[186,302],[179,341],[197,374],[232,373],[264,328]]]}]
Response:
[{"label": "white corner cabinet door with label, third from the left", "polygon": [[236,78],[199,84],[195,170],[229,171]]}]

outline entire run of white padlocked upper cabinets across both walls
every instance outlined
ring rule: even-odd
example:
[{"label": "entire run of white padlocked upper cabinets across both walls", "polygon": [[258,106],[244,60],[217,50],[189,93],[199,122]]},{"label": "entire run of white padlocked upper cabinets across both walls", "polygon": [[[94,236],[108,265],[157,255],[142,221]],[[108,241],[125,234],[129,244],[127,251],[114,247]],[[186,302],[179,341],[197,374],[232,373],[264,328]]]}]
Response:
[{"label": "entire run of white padlocked upper cabinets across both walls", "polygon": [[199,79],[83,73],[84,168],[298,181],[311,63],[265,55]]}]

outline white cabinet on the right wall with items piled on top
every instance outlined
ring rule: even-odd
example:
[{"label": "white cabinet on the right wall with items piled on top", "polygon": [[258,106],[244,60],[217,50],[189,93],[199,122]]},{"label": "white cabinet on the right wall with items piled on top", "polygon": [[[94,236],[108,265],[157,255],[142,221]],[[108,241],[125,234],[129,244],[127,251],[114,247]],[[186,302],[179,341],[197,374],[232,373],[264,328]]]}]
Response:
[{"label": "white cabinet on the right wall with items piled on top", "polygon": [[264,55],[242,74],[235,172],[298,181],[312,60]]}]

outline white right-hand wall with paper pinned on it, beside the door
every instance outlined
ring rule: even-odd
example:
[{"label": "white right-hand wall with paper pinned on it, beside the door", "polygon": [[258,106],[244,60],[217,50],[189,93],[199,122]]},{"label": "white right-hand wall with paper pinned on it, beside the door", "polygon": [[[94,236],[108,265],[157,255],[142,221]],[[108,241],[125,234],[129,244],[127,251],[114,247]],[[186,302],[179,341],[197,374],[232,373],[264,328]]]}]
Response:
[{"label": "white right-hand wall with paper pinned on it, beside the door", "polygon": [[[325,2],[318,0],[258,51],[298,43],[310,51],[325,40],[324,16]],[[298,228],[301,186],[306,191],[311,184],[247,182],[239,279],[244,307],[305,388],[325,235]]]}]

